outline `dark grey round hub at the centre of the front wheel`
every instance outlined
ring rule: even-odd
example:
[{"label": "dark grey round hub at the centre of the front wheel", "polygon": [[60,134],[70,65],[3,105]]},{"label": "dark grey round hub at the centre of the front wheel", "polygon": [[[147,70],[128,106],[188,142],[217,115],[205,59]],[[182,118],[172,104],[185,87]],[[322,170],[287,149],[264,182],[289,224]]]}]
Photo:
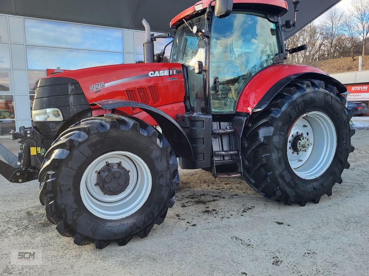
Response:
[{"label": "dark grey round hub at the centre of the front wheel", "polygon": [[97,183],[104,195],[119,195],[130,184],[130,175],[125,167],[119,163],[107,163],[97,173]]}]

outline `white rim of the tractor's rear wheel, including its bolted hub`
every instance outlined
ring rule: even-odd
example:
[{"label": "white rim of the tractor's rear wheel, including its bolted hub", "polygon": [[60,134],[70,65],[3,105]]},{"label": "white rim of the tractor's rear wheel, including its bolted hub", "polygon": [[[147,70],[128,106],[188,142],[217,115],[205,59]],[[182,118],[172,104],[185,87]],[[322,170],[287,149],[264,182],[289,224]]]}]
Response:
[{"label": "white rim of the tractor's rear wheel, including its bolted hub", "polygon": [[297,176],[314,179],[331,165],[337,134],[326,114],[317,111],[304,114],[294,122],[288,136],[287,158]]}]

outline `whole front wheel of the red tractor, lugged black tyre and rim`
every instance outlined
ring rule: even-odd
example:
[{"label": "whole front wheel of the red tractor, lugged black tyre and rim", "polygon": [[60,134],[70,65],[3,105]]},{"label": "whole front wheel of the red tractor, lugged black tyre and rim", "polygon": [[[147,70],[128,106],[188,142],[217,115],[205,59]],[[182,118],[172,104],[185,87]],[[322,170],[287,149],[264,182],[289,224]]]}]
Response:
[{"label": "whole front wheel of the red tractor, lugged black tyre and rim", "polygon": [[[106,182],[98,177],[107,179],[109,167],[104,172],[103,165],[117,167],[114,160],[123,160],[120,172],[129,184],[124,190],[119,187],[123,176],[115,179],[118,174],[113,177],[110,174],[115,169],[110,169],[107,181],[113,180],[103,190],[100,185]],[[175,202],[177,168],[168,141],[143,121],[115,114],[87,118],[63,132],[46,153],[39,174],[39,198],[49,222],[56,224],[62,236],[74,238],[75,244],[126,245],[134,236],[146,237],[154,224],[165,219]],[[100,181],[99,185],[94,181]],[[120,190],[110,194],[110,184]],[[135,196],[137,200],[129,201]],[[129,209],[130,202],[135,205]]]}]

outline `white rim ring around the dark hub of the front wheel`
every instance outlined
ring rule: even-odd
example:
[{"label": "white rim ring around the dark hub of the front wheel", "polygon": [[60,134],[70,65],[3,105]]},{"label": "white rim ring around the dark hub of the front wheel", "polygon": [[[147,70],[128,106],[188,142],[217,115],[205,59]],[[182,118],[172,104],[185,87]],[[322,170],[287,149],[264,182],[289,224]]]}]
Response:
[{"label": "white rim ring around the dark hub of the front wheel", "polygon": [[[125,191],[116,195],[104,194],[96,186],[96,171],[106,164],[118,163],[129,171],[129,184]],[[132,215],[144,205],[152,187],[151,172],[147,164],[139,156],[126,151],[108,152],[95,160],[83,173],[80,193],[83,204],[97,217],[103,219],[121,219]]]}]

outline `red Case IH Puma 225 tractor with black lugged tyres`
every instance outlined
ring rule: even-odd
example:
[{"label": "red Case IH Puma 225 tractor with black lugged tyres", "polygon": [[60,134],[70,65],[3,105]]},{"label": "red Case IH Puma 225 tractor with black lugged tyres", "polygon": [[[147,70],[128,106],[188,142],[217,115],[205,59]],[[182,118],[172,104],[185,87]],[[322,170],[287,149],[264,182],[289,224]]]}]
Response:
[{"label": "red Case IH Puma 225 tractor with black lugged tyres", "polygon": [[[295,14],[299,0],[293,0]],[[42,78],[18,157],[1,174],[38,179],[56,230],[97,248],[161,224],[183,169],[244,177],[291,205],[332,194],[354,150],[345,86],[323,71],[283,64],[283,0],[202,0],[177,15],[175,32],[152,36],[145,63]],[[170,63],[153,42],[173,38]],[[154,60],[157,61],[154,63]]]}]

